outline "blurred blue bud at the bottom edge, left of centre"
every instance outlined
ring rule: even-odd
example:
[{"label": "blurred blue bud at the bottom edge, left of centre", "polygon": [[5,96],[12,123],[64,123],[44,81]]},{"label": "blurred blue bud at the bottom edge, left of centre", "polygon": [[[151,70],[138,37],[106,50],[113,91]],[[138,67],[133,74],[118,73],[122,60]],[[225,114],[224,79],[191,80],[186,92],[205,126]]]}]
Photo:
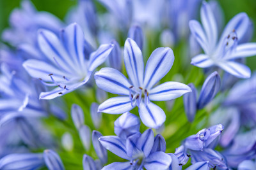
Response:
[{"label": "blurred blue bud at the bottom edge, left of centre", "polygon": [[60,156],[52,150],[44,150],[44,161],[50,170],[64,170]]}]

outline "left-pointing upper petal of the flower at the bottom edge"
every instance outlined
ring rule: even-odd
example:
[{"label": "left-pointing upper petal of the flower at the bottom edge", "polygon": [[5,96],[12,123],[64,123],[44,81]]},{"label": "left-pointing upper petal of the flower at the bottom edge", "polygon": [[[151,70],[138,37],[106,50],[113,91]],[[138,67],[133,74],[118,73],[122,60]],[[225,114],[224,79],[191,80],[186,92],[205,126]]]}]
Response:
[{"label": "left-pointing upper petal of the flower at the bottom edge", "polygon": [[118,136],[102,136],[99,138],[99,141],[107,150],[118,155],[118,157],[127,160],[131,159],[127,155],[124,141],[122,141]]}]

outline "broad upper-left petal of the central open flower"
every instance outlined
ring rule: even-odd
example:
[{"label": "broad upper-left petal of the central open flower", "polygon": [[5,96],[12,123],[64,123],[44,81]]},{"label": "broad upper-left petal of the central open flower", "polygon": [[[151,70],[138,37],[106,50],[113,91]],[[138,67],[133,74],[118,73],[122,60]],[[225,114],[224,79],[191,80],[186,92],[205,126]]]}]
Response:
[{"label": "broad upper-left petal of the central open flower", "polygon": [[129,95],[132,85],[124,74],[113,68],[102,68],[94,74],[97,86],[109,93]]}]

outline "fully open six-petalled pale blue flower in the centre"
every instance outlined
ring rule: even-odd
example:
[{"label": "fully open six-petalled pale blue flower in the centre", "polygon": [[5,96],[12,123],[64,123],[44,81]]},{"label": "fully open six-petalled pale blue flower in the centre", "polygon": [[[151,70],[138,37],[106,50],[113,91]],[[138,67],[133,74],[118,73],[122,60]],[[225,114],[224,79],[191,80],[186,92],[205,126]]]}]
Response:
[{"label": "fully open six-petalled pale blue flower in the centre", "polygon": [[170,71],[173,61],[172,49],[157,48],[150,55],[144,73],[141,50],[134,40],[128,38],[125,41],[124,62],[131,81],[113,68],[102,68],[95,73],[94,78],[100,89],[122,95],[100,104],[99,111],[120,114],[138,106],[143,124],[160,127],[166,116],[159,106],[150,101],[168,101],[191,92],[187,85],[172,81],[154,87]]}]

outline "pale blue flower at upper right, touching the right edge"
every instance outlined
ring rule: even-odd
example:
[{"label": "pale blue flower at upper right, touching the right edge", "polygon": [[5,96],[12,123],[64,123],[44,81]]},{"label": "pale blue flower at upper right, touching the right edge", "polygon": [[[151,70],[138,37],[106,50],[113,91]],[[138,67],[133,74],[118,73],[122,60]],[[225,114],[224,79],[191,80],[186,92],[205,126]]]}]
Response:
[{"label": "pale blue flower at upper right, touching the right edge", "polygon": [[235,61],[256,55],[256,43],[240,44],[250,26],[246,13],[239,13],[228,22],[219,41],[216,18],[209,4],[202,4],[200,14],[203,27],[196,20],[191,20],[189,27],[204,53],[193,57],[191,64],[203,68],[218,66],[239,78],[249,78],[249,67]]}]

